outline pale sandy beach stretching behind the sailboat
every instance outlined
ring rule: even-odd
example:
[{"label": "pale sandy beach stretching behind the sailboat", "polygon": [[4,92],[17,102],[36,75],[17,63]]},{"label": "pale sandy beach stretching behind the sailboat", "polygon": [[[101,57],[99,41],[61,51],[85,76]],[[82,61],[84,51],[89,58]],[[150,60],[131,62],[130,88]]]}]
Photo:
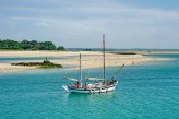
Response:
[{"label": "pale sandy beach stretching behind the sailboat", "polygon": [[[99,68],[103,66],[103,57],[100,51],[0,51],[0,58],[10,57],[62,57],[60,60],[50,60],[51,62],[65,66],[72,66],[73,69],[77,69],[79,66],[79,55],[82,55],[82,68]],[[139,53],[139,52],[138,52]],[[117,55],[106,52],[106,67],[117,67],[117,66],[131,66],[140,64],[148,61],[165,61],[171,60],[166,58],[151,58],[143,52],[143,55]],[[71,58],[65,58],[71,57]],[[39,60],[33,60],[39,61]],[[26,61],[29,62],[29,61]],[[31,61],[32,62],[32,61]],[[75,68],[74,68],[75,67]],[[11,66],[11,62],[0,62],[0,73],[16,72],[22,70],[32,70],[35,67],[20,67]],[[70,68],[69,70],[72,70]]]}]

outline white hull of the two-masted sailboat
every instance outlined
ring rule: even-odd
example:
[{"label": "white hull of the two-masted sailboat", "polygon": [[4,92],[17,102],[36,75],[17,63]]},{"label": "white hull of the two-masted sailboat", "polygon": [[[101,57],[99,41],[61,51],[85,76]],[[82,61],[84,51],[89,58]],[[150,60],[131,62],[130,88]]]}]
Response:
[{"label": "white hull of the two-masted sailboat", "polygon": [[91,94],[91,93],[106,93],[115,91],[116,85],[109,85],[106,87],[93,87],[93,88],[69,88],[67,85],[63,85],[62,87],[69,92],[69,93],[84,93],[84,94]]}]

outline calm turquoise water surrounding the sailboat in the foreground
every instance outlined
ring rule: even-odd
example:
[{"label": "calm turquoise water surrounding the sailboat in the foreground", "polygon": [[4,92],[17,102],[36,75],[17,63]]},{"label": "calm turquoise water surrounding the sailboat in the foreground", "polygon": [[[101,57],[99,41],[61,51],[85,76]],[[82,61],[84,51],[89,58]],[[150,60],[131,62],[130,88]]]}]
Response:
[{"label": "calm turquoise water surrounding the sailboat in the foreground", "polygon": [[[0,118],[179,119],[179,55],[172,58],[124,67],[117,76],[120,83],[116,91],[102,94],[64,92],[61,86],[69,81],[62,78],[77,78],[77,71],[48,69],[0,74]],[[107,78],[114,71],[107,69]],[[100,76],[102,69],[83,72]]]}]

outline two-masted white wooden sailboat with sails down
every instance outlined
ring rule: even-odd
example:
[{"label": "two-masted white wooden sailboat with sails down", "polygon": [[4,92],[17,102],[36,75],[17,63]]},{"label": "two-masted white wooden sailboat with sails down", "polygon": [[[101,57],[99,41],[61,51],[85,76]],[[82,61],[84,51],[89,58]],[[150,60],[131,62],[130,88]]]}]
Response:
[{"label": "two-masted white wooden sailboat with sails down", "polygon": [[[71,81],[75,81],[73,85],[63,85],[62,87],[69,93],[105,93],[115,91],[118,85],[118,81],[115,76],[120,72],[124,67],[121,66],[118,71],[111,76],[110,80],[106,81],[106,71],[105,71],[105,35],[103,34],[103,78],[86,78],[83,84],[82,78],[82,63],[81,63],[81,53],[80,53],[80,80],[73,78],[65,78]],[[95,83],[90,83],[94,81]],[[96,83],[97,82],[97,83]]]}]

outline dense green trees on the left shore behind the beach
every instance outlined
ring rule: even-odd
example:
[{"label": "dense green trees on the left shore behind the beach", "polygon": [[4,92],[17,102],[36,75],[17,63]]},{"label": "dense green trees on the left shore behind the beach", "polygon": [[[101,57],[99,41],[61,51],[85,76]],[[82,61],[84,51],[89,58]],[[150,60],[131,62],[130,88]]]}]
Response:
[{"label": "dense green trees on the left shore behind the beach", "polygon": [[65,50],[63,46],[56,47],[52,41],[0,39],[0,49],[3,50]]}]

